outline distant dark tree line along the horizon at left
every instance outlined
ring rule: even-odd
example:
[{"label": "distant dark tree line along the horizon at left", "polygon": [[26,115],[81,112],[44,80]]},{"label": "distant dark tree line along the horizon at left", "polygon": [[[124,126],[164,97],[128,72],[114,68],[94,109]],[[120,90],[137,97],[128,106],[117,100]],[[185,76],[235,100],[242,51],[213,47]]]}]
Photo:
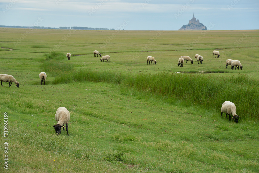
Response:
[{"label": "distant dark tree line along the horizon at left", "polygon": [[[89,27],[59,27],[59,28],[51,28],[51,27],[43,27],[43,26],[5,26],[0,25],[1,28],[34,28],[34,29],[78,29],[78,30],[109,30],[108,28],[89,28]],[[115,30],[111,28],[110,30]]]}]

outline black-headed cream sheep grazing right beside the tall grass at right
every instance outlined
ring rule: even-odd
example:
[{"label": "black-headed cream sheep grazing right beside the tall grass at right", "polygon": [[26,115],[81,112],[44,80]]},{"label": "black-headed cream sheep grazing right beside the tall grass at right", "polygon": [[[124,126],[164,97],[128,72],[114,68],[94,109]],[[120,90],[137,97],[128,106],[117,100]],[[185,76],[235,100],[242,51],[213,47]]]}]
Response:
[{"label": "black-headed cream sheep grazing right beside the tall grass at right", "polygon": [[[226,118],[227,118],[227,115],[229,116],[229,121],[231,121],[231,115],[232,115],[232,119],[238,123],[238,118],[240,116],[238,116],[236,114],[236,106],[234,103],[230,102],[230,101],[225,101],[223,104],[222,104],[222,107],[221,107],[221,117],[222,117],[222,114],[223,112],[226,112]],[[231,114],[231,115],[230,115]]]}]

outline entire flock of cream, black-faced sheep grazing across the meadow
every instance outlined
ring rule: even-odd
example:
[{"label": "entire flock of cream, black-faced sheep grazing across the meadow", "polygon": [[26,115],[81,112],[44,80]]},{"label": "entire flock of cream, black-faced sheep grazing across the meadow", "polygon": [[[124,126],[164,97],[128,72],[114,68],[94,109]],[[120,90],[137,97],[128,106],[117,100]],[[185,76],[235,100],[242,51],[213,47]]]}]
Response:
[{"label": "entire flock of cream, black-faced sheep grazing across the meadow", "polygon": [[[94,53],[95,57],[96,57],[96,55],[97,55],[97,57],[98,57],[98,55],[100,55],[100,57],[101,57],[101,54],[99,53],[99,51],[95,50],[95,51],[93,51],[93,53]],[[214,57],[214,55],[215,55],[215,57],[216,56],[219,57],[220,56],[219,51],[213,51],[213,57]],[[66,57],[68,60],[70,60],[71,54],[67,53]],[[202,64],[203,57],[201,55],[196,54],[194,56],[194,61],[195,61],[195,59],[197,59],[198,64],[199,63]],[[108,60],[109,60],[109,62],[110,62],[110,56],[109,55],[102,56],[102,58],[100,60],[101,60],[101,62],[104,62],[104,60],[107,60],[106,62],[108,62]],[[152,62],[153,62],[153,64],[154,64],[154,62],[156,64],[156,60],[152,56],[147,57],[147,64],[148,64],[148,61],[149,61],[149,64],[150,64],[150,62],[151,62],[151,64],[152,64]],[[187,63],[187,61],[191,61],[191,63],[193,64],[193,60],[189,56],[181,56],[178,60],[178,66],[183,67],[184,61],[186,61],[186,63]],[[231,65],[231,69],[234,69],[234,66],[235,66],[235,69],[236,68],[239,69],[239,66],[240,66],[241,70],[243,68],[240,61],[238,61],[238,60],[228,59],[228,60],[226,60],[226,68],[228,65]],[[45,80],[47,78],[46,73],[41,72],[39,74],[39,77],[40,77],[40,84],[42,85],[42,82],[44,81],[44,85],[45,85]],[[19,82],[17,82],[17,80],[15,80],[15,78],[13,76],[8,75],[8,74],[0,74],[0,81],[1,81],[0,82],[1,85],[2,85],[2,82],[8,82],[9,87],[12,85],[13,82],[16,84],[17,88],[19,88],[19,85],[20,85]],[[231,121],[231,115],[232,115],[232,119],[236,123],[238,122],[239,116],[236,114],[236,106],[234,103],[232,103],[230,101],[225,101],[221,107],[221,117],[222,117],[223,112],[226,113],[226,117],[227,117],[227,115],[229,116],[229,121]],[[66,130],[67,130],[67,134],[68,134],[68,121],[70,120],[70,113],[65,107],[60,107],[57,109],[56,114],[55,114],[55,120],[57,121],[57,124],[54,125],[53,127],[56,131],[56,134],[59,134],[61,132],[62,127],[63,127],[63,130],[65,130],[65,126],[64,126],[65,124],[66,124]]]}]

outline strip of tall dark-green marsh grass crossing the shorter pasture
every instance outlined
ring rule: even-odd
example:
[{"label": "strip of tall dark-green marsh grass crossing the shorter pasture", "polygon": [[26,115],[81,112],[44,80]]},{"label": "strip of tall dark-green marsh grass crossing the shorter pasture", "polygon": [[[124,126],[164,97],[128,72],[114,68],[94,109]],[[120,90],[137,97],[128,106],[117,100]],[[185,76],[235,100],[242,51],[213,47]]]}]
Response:
[{"label": "strip of tall dark-green marsh grass crossing the shorter pasture", "polygon": [[[121,88],[133,88],[153,94],[168,102],[180,100],[185,106],[197,105],[203,109],[219,111],[224,101],[231,101],[237,107],[241,119],[258,121],[259,87],[258,81],[244,74],[214,76],[208,74],[125,74],[95,70],[74,71],[69,63],[60,63],[56,58],[46,58],[43,66],[55,76],[54,84],[69,82],[107,82],[119,84]],[[64,55],[62,55],[64,58]]]}]

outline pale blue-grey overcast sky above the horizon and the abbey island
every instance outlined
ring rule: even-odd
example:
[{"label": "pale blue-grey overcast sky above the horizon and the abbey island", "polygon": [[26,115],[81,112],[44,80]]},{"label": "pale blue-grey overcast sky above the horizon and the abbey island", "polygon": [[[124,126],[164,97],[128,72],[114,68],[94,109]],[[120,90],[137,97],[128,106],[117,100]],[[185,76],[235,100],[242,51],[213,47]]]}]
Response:
[{"label": "pale blue-grey overcast sky above the horizon and the abbey island", "polygon": [[258,0],[1,0],[0,25],[178,30],[193,13],[210,30],[259,29]]}]

